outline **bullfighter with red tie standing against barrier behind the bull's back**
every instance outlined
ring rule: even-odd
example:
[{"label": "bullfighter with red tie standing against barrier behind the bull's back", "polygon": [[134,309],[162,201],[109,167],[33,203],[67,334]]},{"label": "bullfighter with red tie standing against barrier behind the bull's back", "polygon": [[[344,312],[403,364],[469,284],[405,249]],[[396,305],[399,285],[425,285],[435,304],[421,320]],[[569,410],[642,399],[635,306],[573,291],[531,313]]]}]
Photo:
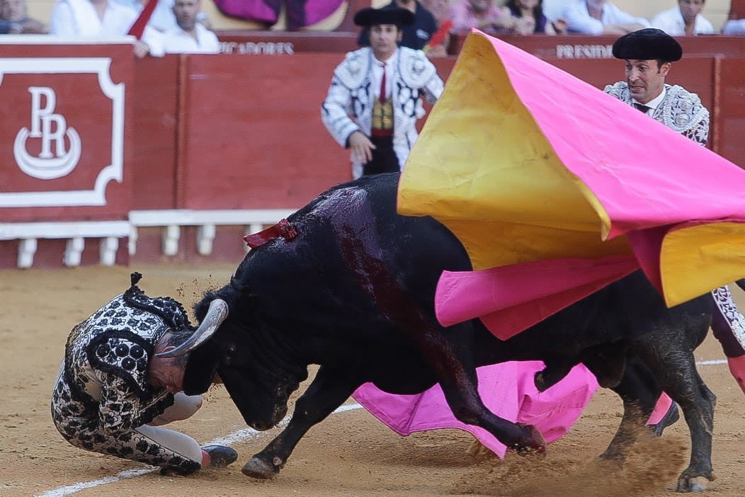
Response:
[{"label": "bullfighter with red tie standing against barrier behind the bull's back", "polygon": [[424,52],[399,47],[401,28],[413,22],[402,8],[366,8],[355,24],[370,30],[370,47],[346,54],[334,71],[321,119],[336,142],[350,148],[352,176],[401,171],[443,80]]}]

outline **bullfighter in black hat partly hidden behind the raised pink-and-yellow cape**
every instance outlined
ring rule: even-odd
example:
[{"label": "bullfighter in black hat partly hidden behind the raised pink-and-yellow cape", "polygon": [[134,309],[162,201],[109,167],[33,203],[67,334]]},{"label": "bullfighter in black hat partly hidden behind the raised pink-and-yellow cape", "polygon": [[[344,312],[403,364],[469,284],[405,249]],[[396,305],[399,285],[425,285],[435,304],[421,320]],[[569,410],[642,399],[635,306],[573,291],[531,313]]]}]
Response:
[{"label": "bullfighter in black hat partly hidden behind the raised pink-and-yellow cape", "polygon": [[[672,63],[682,55],[682,47],[665,31],[647,28],[625,34],[613,44],[613,56],[624,60],[626,80],[606,86],[605,92],[705,146],[708,110],[695,93],[665,83]],[[722,344],[732,376],[745,393],[745,317],[727,286],[711,294],[716,303],[711,329]]]}]

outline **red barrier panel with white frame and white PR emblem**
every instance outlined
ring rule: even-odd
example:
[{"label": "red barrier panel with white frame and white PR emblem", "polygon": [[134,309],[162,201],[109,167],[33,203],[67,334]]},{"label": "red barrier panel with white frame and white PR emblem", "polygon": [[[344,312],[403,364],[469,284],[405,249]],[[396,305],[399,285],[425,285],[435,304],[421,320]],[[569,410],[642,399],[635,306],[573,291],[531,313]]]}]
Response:
[{"label": "red barrier panel with white frame and white PR emblem", "polygon": [[126,219],[132,47],[19,44],[0,53],[0,220]]}]

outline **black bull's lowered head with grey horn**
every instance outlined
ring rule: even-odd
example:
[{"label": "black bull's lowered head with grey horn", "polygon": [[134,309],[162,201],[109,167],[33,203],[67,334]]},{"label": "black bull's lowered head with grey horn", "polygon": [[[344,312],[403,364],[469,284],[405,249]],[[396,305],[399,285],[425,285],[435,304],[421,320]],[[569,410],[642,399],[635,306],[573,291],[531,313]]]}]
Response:
[{"label": "black bull's lowered head with grey horn", "polygon": [[206,392],[218,373],[247,425],[260,431],[273,428],[287,414],[288,398],[307,377],[307,369],[278,374],[295,368],[282,367],[276,357],[257,356],[257,352],[267,351],[257,351],[261,347],[250,344],[251,330],[238,318],[226,321],[228,308],[225,300],[212,300],[197,331],[181,346],[158,357],[188,354],[185,393]]}]

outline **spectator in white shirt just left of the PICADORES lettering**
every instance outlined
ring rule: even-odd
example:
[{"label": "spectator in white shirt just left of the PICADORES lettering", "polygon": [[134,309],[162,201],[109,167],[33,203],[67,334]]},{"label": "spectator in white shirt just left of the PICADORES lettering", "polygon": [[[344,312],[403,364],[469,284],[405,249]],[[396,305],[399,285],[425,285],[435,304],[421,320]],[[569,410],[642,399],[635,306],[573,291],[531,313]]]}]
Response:
[{"label": "spectator in white shirt just left of the PICADORES lettering", "polygon": [[220,42],[212,31],[205,28],[197,16],[202,10],[202,0],[175,0],[174,16],[177,27],[163,37],[166,54],[218,54]]}]

